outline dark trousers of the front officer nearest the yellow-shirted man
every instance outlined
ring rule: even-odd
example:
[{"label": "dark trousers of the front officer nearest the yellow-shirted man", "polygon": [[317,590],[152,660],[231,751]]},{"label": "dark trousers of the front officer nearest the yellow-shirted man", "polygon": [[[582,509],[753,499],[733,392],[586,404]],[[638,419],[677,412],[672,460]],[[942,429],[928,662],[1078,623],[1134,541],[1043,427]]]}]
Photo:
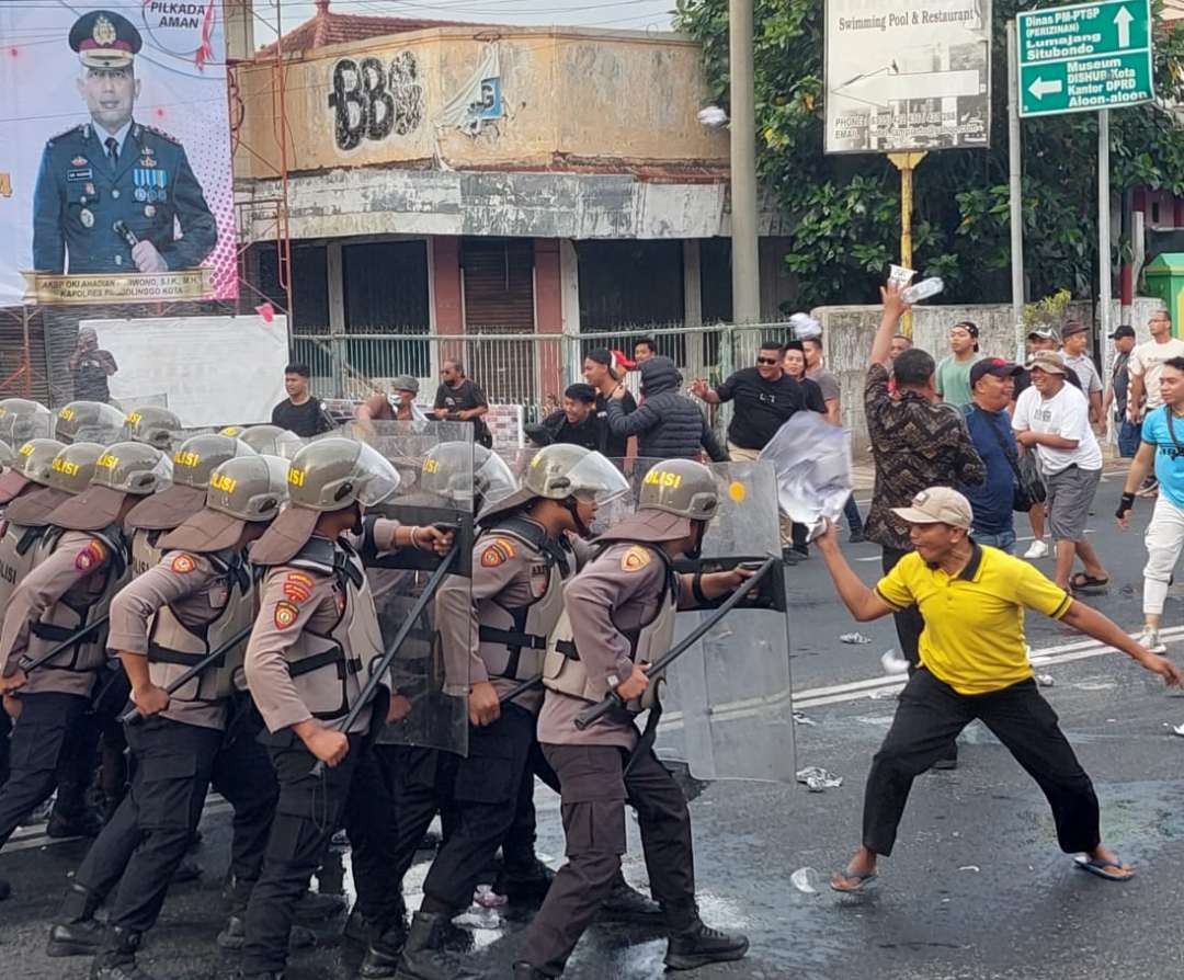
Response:
[{"label": "dark trousers of the front officer nearest the yellow-shirted man", "polygon": [[552,976],[596,917],[620,871],[625,802],[637,811],[650,890],[671,929],[695,913],[690,814],[678,784],[652,752],[625,773],[629,753],[611,746],[543,746],[559,774],[567,863],[526,933],[521,958]]}]

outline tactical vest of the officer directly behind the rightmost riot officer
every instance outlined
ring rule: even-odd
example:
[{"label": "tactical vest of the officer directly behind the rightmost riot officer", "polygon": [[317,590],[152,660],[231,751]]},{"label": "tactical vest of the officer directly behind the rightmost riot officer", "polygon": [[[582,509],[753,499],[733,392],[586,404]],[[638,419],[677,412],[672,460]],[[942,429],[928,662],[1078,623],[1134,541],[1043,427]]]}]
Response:
[{"label": "tactical vest of the officer directly behind the rightmost riot officer", "polygon": [[489,676],[528,681],[542,673],[547,640],[562,615],[564,582],[573,574],[575,556],[534,521],[521,517],[508,517],[482,530],[482,537],[490,535],[517,539],[536,552],[547,568],[547,588],[525,606],[507,606],[496,599],[477,604],[480,653]]}]

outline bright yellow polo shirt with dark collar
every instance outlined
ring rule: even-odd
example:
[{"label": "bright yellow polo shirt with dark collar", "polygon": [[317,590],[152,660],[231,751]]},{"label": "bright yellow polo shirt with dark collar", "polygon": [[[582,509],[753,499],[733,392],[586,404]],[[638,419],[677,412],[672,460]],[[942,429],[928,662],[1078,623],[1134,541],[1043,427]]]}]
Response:
[{"label": "bright yellow polo shirt with dark collar", "polygon": [[954,578],[905,555],[876,585],[894,610],[914,602],[925,619],[921,664],[958,694],[979,695],[1032,676],[1024,643],[1024,610],[1060,619],[1072,597],[1027,561],[974,546]]}]

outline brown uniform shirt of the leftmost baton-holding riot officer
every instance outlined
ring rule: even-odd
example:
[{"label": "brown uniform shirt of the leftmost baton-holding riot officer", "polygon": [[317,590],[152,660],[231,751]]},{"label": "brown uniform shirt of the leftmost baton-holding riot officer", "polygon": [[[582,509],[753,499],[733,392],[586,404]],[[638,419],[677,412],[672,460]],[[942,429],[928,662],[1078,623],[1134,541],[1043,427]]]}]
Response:
[{"label": "brown uniform shirt of the leftmost baton-holding riot officer", "polygon": [[[45,561],[17,586],[0,630],[0,664],[4,673],[19,668],[28,649],[30,626],[41,619],[59,601],[85,608],[99,598],[107,586],[105,572],[111,555],[108,547],[85,531],[64,531],[62,540]],[[63,651],[69,660],[70,651]],[[38,668],[28,673],[28,683],[18,691],[27,694],[71,694],[88,697],[95,684],[94,671],[49,670]]]}]

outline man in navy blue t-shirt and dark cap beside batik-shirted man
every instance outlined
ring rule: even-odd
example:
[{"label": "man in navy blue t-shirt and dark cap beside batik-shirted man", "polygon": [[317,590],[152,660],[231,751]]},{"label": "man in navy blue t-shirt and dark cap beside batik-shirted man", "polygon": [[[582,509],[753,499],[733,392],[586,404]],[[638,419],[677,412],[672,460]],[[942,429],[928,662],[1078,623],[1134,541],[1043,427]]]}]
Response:
[{"label": "man in navy blue t-shirt and dark cap beside batik-shirted man", "polygon": [[1019,365],[1000,357],[985,357],[970,369],[971,404],[964,410],[966,428],[986,464],[986,479],[980,486],[958,488],[974,511],[971,528],[974,541],[1008,554],[1016,544],[1011,515],[1019,459],[1008,405],[1021,370]]}]

